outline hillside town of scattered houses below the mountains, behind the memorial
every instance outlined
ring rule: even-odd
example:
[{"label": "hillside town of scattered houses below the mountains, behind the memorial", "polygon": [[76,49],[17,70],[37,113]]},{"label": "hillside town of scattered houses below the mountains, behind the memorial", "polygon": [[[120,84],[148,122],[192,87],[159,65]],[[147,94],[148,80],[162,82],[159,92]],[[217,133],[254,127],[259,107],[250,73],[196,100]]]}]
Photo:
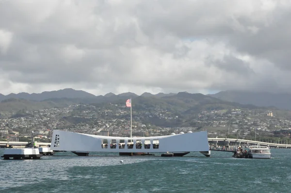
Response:
[{"label": "hillside town of scattered houses below the mountains, behind the memorial", "polygon": [[[181,124],[173,127],[157,126],[161,122]],[[30,141],[34,138],[49,142],[53,129],[129,136],[130,110],[117,104],[107,107],[77,104],[67,108],[22,111],[10,118],[0,119],[1,140]],[[240,109],[202,111],[188,120],[162,109],[132,112],[133,136],[159,136],[199,130],[207,130],[209,137],[254,139],[255,131],[258,138],[289,137],[291,120],[275,117],[271,111]]]}]

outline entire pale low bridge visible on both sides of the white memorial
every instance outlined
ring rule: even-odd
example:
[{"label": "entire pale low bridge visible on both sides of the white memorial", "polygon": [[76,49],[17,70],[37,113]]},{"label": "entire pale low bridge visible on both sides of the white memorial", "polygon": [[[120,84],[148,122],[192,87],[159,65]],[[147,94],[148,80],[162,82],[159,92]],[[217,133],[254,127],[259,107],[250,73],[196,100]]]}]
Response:
[{"label": "entire pale low bridge visible on both sides of the white memorial", "polygon": [[[231,139],[231,138],[208,138],[208,142],[210,144],[218,144],[218,142],[224,142],[226,145],[229,145],[230,143],[235,144],[246,144],[248,145],[266,145],[269,147],[275,147],[275,148],[291,148],[291,144],[275,144],[275,143],[268,143],[268,142],[259,142],[259,141],[252,141],[252,140],[246,140],[246,139]],[[2,141],[0,142],[0,147],[24,147],[25,145],[28,145],[28,142],[6,142]],[[41,142],[35,142],[35,146],[47,146],[50,145],[50,143],[41,143]]]}]

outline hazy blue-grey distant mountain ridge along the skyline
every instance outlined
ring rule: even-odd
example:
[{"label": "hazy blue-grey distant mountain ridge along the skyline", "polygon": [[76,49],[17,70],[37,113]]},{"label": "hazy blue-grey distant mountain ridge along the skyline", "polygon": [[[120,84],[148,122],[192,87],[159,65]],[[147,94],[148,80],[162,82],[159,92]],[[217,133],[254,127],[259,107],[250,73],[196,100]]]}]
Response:
[{"label": "hazy blue-grey distant mountain ridge along the skyline", "polygon": [[[1,103],[7,102],[16,102],[19,100],[15,99],[24,99],[27,101],[34,102],[50,102],[58,104],[62,103],[100,103],[100,102],[111,102],[116,100],[126,100],[128,98],[156,98],[156,99],[179,99],[183,98],[183,100],[196,100],[202,101],[203,103],[207,103],[207,101],[211,101],[213,103],[239,103],[242,105],[255,105],[259,107],[276,107],[279,109],[291,110],[291,94],[272,94],[272,93],[259,93],[259,92],[249,92],[249,91],[222,91],[216,94],[211,95],[202,95],[202,94],[189,94],[187,92],[180,93],[144,93],[141,96],[138,96],[134,93],[122,93],[119,95],[115,95],[113,93],[108,93],[104,96],[95,96],[93,94],[87,93],[82,90],[74,90],[72,88],[66,88],[58,91],[46,91],[39,94],[29,94],[29,93],[11,93],[9,95],[0,94]],[[184,101],[184,102],[185,102]],[[228,102],[228,103],[225,103]]]}]

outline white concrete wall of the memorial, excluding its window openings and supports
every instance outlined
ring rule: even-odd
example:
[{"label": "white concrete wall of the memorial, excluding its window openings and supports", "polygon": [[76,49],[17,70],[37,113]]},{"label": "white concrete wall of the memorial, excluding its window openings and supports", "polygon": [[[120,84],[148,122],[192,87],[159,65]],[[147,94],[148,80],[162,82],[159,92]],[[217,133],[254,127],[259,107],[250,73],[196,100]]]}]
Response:
[{"label": "white concrete wall of the memorial, excluding its window openings and supports", "polygon": [[[55,136],[57,135],[58,146],[54,146]],[[59,135],[59,136],[58,136]],[[125,148],[119,149],[116,145],[116,149],[111,149],[110,144],[108,148],[102,148],[101,142],[103,139],[108,139],[110,143],[111,139],[116,139],[117,144],[121,139],[125,140]],[[128,140],[132,139],[134,145],[132,149],[127,148]],[[142,149],[135,148],[135,142],[137,139],[151,141],[150,149],[145,149],[144,145]],[[153,149],[153,140],[159,140],[159,149]],[[178,135],[167,135],[157,137],[108,137],[99,135],[89,135],[74,133],[68,131],[54,130],[51,141],[51,150],[58,151],[93,151],[93,152],[194,152],[194,151],[209,151],[207,131],[185,133]]]}]

